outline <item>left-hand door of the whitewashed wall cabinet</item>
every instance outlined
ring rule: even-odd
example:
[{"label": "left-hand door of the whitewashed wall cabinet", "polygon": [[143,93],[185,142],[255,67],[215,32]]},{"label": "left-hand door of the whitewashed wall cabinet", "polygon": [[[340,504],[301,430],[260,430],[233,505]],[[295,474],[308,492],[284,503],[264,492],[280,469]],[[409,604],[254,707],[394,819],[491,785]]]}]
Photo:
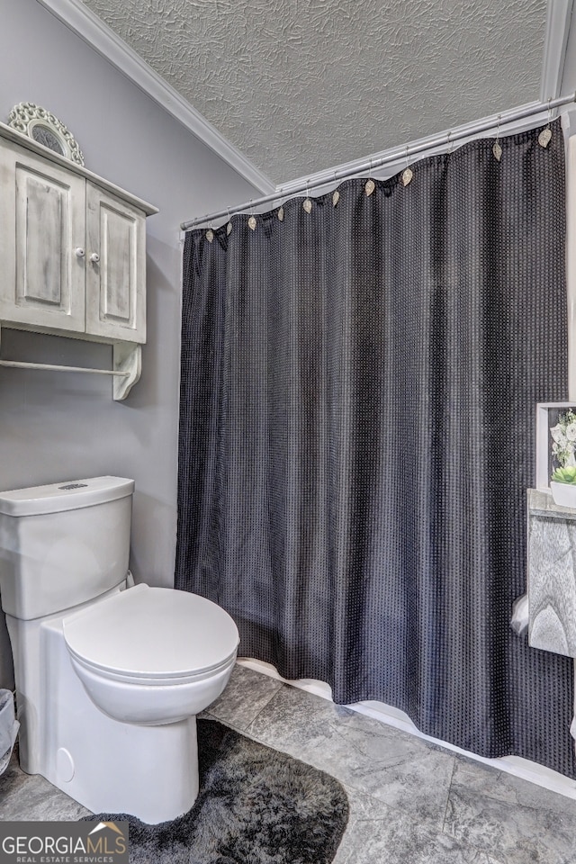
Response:
[{"label": "left-hand door of the whitewashed wall cabinet", "polygon": [[85,179],[0,149],[0,320],[85,329]]}]

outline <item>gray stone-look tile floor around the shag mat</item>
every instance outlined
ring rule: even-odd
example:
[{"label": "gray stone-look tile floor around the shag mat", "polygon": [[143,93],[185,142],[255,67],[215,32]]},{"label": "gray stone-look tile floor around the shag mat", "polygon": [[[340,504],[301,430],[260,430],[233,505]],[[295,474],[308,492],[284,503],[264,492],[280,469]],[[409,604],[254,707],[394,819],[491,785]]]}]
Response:
[{"label": "gray stone-look tile floor around the shag mat", "polygon": [[[576,864],[576,801],[257,671],[237,666],[205,716],[340,780],[350,820],[334,864]],[[1,820],[85,813],[16,761],[0,777]]]}]

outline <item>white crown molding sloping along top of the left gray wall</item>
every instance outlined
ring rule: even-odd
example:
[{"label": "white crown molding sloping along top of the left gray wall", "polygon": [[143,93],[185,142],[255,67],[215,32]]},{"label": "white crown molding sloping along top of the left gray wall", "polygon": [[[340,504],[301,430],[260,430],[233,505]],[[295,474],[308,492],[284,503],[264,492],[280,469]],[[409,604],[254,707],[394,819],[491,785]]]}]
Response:
[{"label": "white crown molding sloping along top of the left gray wall", "polygon": [[113,67],[139,87],[175,120],[193,133],[259,192],[274,192],[275,184],[258,171],[225,139],[200,112],[166,83],[148,64],[114,33],[81,0],[37,0],[49,13],[76,33]]}]

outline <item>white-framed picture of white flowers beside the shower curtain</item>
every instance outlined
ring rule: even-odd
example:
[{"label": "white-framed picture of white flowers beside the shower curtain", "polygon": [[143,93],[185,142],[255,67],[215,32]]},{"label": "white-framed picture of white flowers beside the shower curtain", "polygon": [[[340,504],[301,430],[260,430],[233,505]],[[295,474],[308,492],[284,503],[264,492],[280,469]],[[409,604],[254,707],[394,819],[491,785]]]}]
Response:
[{"label": "white-framed picture of white flowers beside the shower curtain", "polygon": [[536,405],[536,489],[549,490],[556,468],[576,465],[576,404]]}]

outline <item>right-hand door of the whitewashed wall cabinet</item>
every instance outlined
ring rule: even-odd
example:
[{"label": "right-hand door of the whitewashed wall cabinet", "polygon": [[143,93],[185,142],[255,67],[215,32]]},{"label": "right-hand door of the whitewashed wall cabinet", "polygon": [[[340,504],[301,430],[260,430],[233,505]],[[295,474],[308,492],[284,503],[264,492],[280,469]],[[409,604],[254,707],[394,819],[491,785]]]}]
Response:
[{"label": "right-hand door of the whitewashed wall cabinet", "polygon": [[86,184],[86,333],[146,341],[146,216]]}]

